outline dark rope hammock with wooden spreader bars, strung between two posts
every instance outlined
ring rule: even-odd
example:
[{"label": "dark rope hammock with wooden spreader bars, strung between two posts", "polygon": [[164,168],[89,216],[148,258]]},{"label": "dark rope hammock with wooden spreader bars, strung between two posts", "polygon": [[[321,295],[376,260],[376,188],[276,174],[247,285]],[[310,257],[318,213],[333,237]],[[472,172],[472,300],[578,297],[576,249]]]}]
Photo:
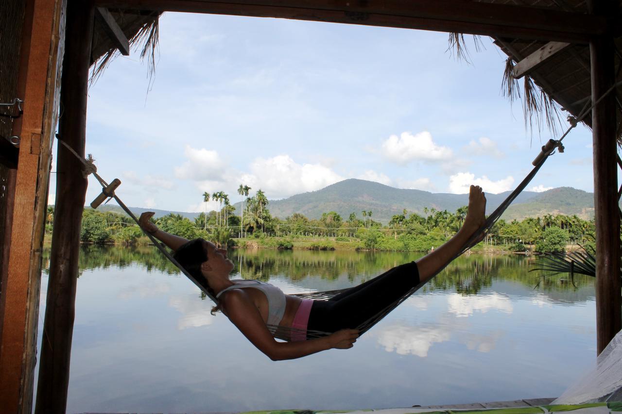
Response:
[{"label": "dark rope hammock with wooden spreader bars, strung between two posts", "polygon": [[[613,91],[616,88],[616,86],[617,86],[617,84],[611,86],[611,88],[608,91],[606,91],[603,94],[603,96],[601,96],[598,100],[596,100],[596,102],[593,103],[592,106],[590,106],[589,108],[586,108],[587,107],[587,103],[586,103],[584,108],[583,108],[583,110],[579,114],[579,116],[577,116],[577,117],[570,116],[569,117],[568,121],[570,123],[570,127],[567,129],[567,131],[560,137],[559,140],[552,140],[552,139],[550,139],[549,143],[547,143],[547,145],[544,145],[542,147],[542,150],[541,150],[540,154],[536,157],[536,160],[534,160],[534,162],[533,162],[534,168],[532,168],[531,172],[529,172],[529,174],[527,174],[527,176],[522,180],[522,182],[519,183],[518,186],[516,186],[514,191],[512,191],[508,195],[508,197],[503,201],[503,203],[501,203],[501,205],[499,205],[493,211],[493,213],[490,214],[490,216],[488,216],[488,218],[486,218],[484,224],[482,224],[482,226],[470,237],[470,239],[468,239],[468,241],[466,241],[466,243],[463,245],[462,249],[460,249],[458,254],[456,254],[452,258],[452,260],[449,260],[447,262],[447,264],[443,265],[442,268],[437,270],[437,272],[435,272],[432,277],[435,277],[436,275],[438,275],[440,272],[442,272],[443,269],[445,269],[445,267],[447,267],[447,265],[450,262],[455,260],[460,255],[462,255],[464,252],[468,251],[468,249],[470,249],[471,247],[475,246],[475,244],[480,242],[481,236],[483,236],[483,234],[485,234],[488,230],[490,230],[490,228],[492,228],[494,226],[494,223],[496,223],[496,221],[501,217],[501,214],[503,214],[504,211],[506,211],[506,209],[509,207],[509,205],[511,205],[511,203],[516,199],[516,197],[526,188],[527,185],[529,185],[531,180],[536,176],[536,173],[540,170],[542,165],[544,165],[544,162],[547,159],[549,159],[550,155],[554,154],[555,149],[557,148],[557,149],[559,149],[559,152],[563,152],[564,147],[563,147],[563,145],[561,145],[562,140],[569,134],[569,132],[574,127],[577,126],[578,122],[581,122],[583,120],[583,118],[585,116],[587,116],[589,111],[591,111],[592,108],[594,108],[598,103],[600,103],[600,101],[603,98],[605,98],[606,95],[610,94],[611,91]],[[96,180],[98,180],[98,182],[100,183],[100,185],[103,188],[103,195],[105,195],[109,199],[114,198],[114,200],[128,214],[128,216],[130,216],[134,221],[136,221],[136,224],[138,224],[139,228],[141,228],[142,232],[144,232],[144,234],[146,234],[146,236],[149,237],[149,239],[154,244],[154,246],[156,246],[157,249],[159,249],[159,251],[162,252],[162,254],[164,254],[164,256],[167,259],[170,260],[170,262],[172,262],[172,264],[177,266],[179,268],[179,270],[188,279],[190,279],[195,285],[197,285],[197,287],[200,288],[200,290],[203,293],[205,293],[205,295],[207,295],[207,297],[210,298],[211,301],[213,301],[214,303],[216,303],[216,305],[218,305],[218,299],[216,299],[216,297],[212,294],[210,288],[207,285],[207,281],[205,281],[205,280],[197,280],[195,277],[193,277],[190,273],[187,272],[187,270],[183,269],[182,265],[180,265],[179,262],[177,262],[177,260],[175,260],[175,258],[170,254],[170,252],[164,246],[164,244],[162,244],[159,240],[157,240],[156,237],[154,237],[152,234],[149,234],[149,232],[147,232],[144,229],[142,229],[142,227],[140,226],[140,223],[139,223],[138,219],[136,218],[136,216],[134,215],[134,213],[132,213],[132,211],[114,193],[114,190],[109,190],[109,188],[111,188],[110,185],[108,183],[106,183],[106,181],[103,178],[101,178],[100,175],[97,173],[97,168],[95,167],[95,163],[94,163],[95,160],[93,160],[93,158],[90,155],[89,155],[88,159],[85,159],[80,154],[75,152],[75,150],[73,150],[73,148],[70,147],[69,144],[67,144],[63,139],[61,139],[61,137],[58,136],[58,134],[57,134],[56,137],[58,138],[58,142],[60,142],[60,144],[62,144],[65,147],[67,147],[67,149],[70,152],[72,152],[72,154],[75,155],[75,157],[77,157],[77,159],[80,160],[81,163],[83,163],[83,165],[84,165],[83,174],[85,175],[85,177],[87,177],[90,174],[93,174],[93,177],[95,177]],[[116,187],[114,187],[114,188],[116,188]],[[411,290],[409,290],[404,295],[402,295],[402,297],[399,298],[397,301],[394,301],[394,303],[391,303],[390,305],[386,306],[383,310],[379,311],[376,315],[372,316],[368,320],[366,320],[363,323],[361,323],[360,326],[357,326],[356,328],[359,329],[360,334],[362,335],[363,333],[368,331],[369,328],[374,326],[374,324],[378,323],[381,319],[384,318],[384,316],[386,316],[389,312],[394,310],[404,300],[409,298],[413,293],[417,292],[417,290],[419,290],[424,284],[425,283],[419,283],[415,287],[411,288]],[[294,294],[292,296],[299,297],[299,298],[312,299],[312,300],[330,300],[330,298],[335,297],[336,295],[340,294],[341,292],[344,292],[345,290],[348,290],[348,288],[341,289],[341,290],[329,290],[329,291],[326,291],[326,292],[300,293],[300,294]],[[296,328],[290,328],[290,327],[278,326],[278,325],[272,325],[272,324],[268,324],[267,328],[274,335],[275,338],[283,339],[284,341],[289,341],[290,338],[292,337],[293,333],[303,333],[303,334],[306,333],[307,334],[307,338],[320,338],[322,336],[327,336],[327,335],[331,334],[330,332],[322,332],[322,331],[311,331],[311,330],[302,331],[302,330],[296,329]]]}]

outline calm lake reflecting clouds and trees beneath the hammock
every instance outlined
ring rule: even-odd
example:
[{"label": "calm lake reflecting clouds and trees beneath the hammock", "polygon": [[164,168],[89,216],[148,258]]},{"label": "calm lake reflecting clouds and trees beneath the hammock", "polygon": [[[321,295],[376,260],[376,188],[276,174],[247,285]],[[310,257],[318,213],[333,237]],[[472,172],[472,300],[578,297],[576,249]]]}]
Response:
[{"label": "calm lake reflecting clouds and trees beneath the hammock", "polygon": [[[421,255],[234,250],[232,278],[357,285]],[[593,279],[467,255],[352,349],[273,362],[154,247],[84,246],[67,412],[360,409],[557,397],[596,356]],[[47,291],[41,288],[39,336]],[[561,279],[567,279],[564,275]],[[39,338],[39,343],[40,343]]]}]

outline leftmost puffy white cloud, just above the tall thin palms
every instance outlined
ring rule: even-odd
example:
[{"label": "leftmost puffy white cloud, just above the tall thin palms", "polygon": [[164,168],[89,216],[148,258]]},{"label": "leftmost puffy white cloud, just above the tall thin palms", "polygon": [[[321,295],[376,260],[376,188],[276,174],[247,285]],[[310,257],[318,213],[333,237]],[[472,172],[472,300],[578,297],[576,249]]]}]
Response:
[{"label": "leftmost puffy white cloud, just above the tall thin palms", "polygon": [[194,181],[222,181],[225,163],[218,152],[186,145],[183,155],[188,160],[181,167],[175,167],[175,177]]}]

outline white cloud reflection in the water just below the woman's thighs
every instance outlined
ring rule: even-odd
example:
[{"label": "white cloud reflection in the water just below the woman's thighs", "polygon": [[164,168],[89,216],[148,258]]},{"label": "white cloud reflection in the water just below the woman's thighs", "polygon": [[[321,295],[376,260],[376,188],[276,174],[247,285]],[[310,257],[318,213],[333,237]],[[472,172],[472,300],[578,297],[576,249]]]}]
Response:
[{"label": "white cloud reflection in the water just below the woman's thighs", "polygon": [[452,336],[450,326],[406,326],[391,324],[378,333],[378,343],[387,352],[400,355],[416,355],[426,357],[433,343],[448,341]]}]

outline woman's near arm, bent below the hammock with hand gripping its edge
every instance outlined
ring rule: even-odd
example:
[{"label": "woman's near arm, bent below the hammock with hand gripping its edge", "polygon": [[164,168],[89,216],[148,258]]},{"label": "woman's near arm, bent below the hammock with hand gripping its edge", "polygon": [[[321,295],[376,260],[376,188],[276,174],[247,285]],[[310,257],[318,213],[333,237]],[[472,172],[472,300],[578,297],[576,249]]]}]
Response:
[{"label": "woman's near arm, bent below the hammock with hand gripping its edge", "polygon": [[277,342],[272,338],[253,301],[243,289],[233,289],[221,298],[223,313],[241,333],[272,361],[304,357],[327,349],[348,349],[358,338],[357,329],[341,329],[323,338],[300,342]]}]

